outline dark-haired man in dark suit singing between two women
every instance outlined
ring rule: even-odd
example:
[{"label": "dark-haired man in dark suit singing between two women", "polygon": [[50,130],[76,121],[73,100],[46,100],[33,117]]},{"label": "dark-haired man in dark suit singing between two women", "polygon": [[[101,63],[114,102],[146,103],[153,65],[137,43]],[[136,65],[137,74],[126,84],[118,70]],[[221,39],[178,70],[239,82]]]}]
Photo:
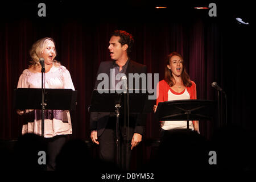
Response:
[{"label": "dark-haired man in dark suit singing between two women", "polygon": [[[131,52],[133,42],[133,37],[126,31],[114,31],[109,41],[109,51],[112,61],[101,62],[100,67],[98,68],[97,77],[101,73],[106,73],[110,78],[110,72],[112,72],[112,74],[114,72],[114,78],[116,78],[118,73],[124,73],[127,76],[127,82],[129,82],[129,73],[146,74],[146,65],[136,63],[135,61],[130,60],[130,57],[128,56],[128,52]],[[120,81],[121,79],[114,81],[110,81],[109,79],[109,85],[112,85],[108,86],[108,88],[116,88],[115,86],[117,86]],[[96,79],[95,89],[98,88],[99,83],[100,81]],[[141,81],[140,85],[142,85]],[[99,144],[100,158],[113,163],[115,162],[115,122],[116,117],[113,113],[90,113],[90,138],[94,143]],[[123,115],[120,115],[119,124],[119,130],[121,131],[121,148],[123,145],[127,144],[127,141],[129,141],[131,146],[129,146],[129,154],[127,155],[130,158],[131,150],[133,150],[133,148],[142,140],[144,126],[146,124],[145,115],[129,114],[129,128],[126,130],[124,130],[123,127]],[[125,146],[125,148],[126,147],[127,146]],[[123,164],[121,164],[121,166],[123,166]]]}]

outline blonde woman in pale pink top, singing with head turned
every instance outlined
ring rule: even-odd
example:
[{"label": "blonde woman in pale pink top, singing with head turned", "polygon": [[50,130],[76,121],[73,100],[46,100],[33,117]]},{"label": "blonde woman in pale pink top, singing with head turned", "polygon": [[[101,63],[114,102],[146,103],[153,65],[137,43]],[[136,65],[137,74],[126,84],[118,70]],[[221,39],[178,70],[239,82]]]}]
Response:
[{"label": "blonde woman in pale pink top, singing with head turned", "polygon": [[[55,60],[55,42],[52,38],[36,41],[30,50],[30,65],[19,77],[17,88],[41,88],[42,73],[39,63],[43,57],[46,74],[45,88],[75,90],[69,71]],[[22,134],[41,135],[41,110],[17,110],[19,115],[26,115],[28,121],[23,124]],[[72,134],[69,110],[45,110],[44,137],[47,141],[47,170],[55,169],[55,158],[65,143],[66,136]]]}]

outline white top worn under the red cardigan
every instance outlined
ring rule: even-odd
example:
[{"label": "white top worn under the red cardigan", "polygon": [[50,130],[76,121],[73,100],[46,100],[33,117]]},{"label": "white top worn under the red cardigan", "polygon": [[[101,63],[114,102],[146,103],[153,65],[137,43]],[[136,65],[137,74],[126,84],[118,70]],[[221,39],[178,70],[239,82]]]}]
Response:
[{"label": "white top worn under the red cardigan", "polygon": [[[190,99],[190,96],[187,88],[185,88],[181,93],[177,93],[171,88],[168,90],[168,101],[188,100],[188,99]],[[162,129],[163,130],[187,129],[187,121],[162,121]],[[193,130],[192,121],[189,121],[189,129]]]}]

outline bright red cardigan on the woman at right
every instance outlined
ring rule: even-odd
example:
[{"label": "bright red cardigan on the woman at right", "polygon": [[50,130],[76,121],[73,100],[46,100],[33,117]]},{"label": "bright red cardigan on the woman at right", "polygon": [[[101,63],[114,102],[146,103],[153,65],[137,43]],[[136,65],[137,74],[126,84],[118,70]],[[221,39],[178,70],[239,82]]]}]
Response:
[{"label": "bright red cardigan on the woman at right", "polygon": [[[196,84],[191,81],[191,87],[186,87],[190,96],[190,99],[196,99]],[[158,82],[157,86],[157,95],[156,95],[156,105],[159,102],[168,101],[168,91],[170,90],[170,85],[167,84],[165,80],[161,80]]]}]

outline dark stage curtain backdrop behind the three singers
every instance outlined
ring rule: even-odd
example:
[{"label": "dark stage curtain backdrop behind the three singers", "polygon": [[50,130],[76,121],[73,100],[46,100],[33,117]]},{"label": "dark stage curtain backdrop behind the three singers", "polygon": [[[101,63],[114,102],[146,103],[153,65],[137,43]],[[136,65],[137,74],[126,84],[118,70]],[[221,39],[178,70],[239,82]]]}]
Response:
[{"label": "dark stage curtain backdrop behind the three singers", "polygon": [[[46,17],[38,16],[38,4],[46,3]],[[217,16],[193,7],[217,5]],[[167,9],[155,9],[166,5]],[[249,25],[239,24],[240,17]],[[253,4],[247,1],[21,1],[1,3],[0,12],[0,139],[21,135],[22,118],[13,108],[14,89],[28,67],[28,51],[43,37],[56,42],[56,59],[67,67],[78,91],[77,109],[72,111],[72,138],[89,140],[91,92],[101,61],[110,60],[109,39],[114,30],[126,30],[135,39],[131,59],[147,65],[148,73],[164,76],[168,53],[180,52],[197,98],[217,101],[216,81],[221,94],[221,121],[200,122],[200,133],[210,139],[215,129],[238,126],[254,135],[255,21]],[[150,158],[147,140],[159,137],[159,122],[148,114],[143,143],[135,150],[137,159]]]}]

